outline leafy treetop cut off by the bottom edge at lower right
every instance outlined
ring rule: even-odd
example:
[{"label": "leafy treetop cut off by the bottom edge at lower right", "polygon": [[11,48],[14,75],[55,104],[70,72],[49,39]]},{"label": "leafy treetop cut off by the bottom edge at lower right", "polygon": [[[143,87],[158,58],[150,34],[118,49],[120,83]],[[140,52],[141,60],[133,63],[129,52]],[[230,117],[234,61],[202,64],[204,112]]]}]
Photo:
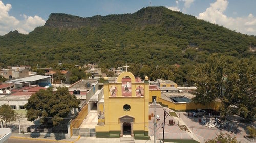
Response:
[{"label": "leafy treetop cut off by the bottom edge at lower right", "polygon": [[236,138],[232,138],[229,134],[220,133],[215,139],[206,141],[205,143],[237,143]]}]

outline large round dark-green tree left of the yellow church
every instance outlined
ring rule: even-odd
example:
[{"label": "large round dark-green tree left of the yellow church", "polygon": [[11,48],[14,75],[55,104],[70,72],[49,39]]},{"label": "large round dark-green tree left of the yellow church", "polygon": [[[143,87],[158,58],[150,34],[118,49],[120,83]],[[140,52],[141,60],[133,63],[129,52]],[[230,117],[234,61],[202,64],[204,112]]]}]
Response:
[{"label": "large round dark-green tree left of the yellow church", "polygon": [[57,91],[53,91],[50,87],[33,94],[24,106],[27,110],[28,121],[35,121],[41,117],[41,122],[47,124],[52,121],[55,126],[68,116],[72,108],[78,108],[79,104],[80,100],[71,95],[67,87],[58,87]]}]

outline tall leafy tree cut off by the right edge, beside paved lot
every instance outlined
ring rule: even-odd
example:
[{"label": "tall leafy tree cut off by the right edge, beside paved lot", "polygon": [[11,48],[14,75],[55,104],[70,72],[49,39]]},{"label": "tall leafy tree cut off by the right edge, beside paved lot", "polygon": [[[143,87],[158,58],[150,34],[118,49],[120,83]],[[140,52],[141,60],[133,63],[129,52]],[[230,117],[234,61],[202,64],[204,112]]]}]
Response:
[{"label": "tall leafy tree cut off by the right edge, beside paved lot", "polygon": [[234,108],[243,117],[252,118],[256,113],[256,62],[255,58],[241,59],[232,64],[225,82],[223,106]]}]

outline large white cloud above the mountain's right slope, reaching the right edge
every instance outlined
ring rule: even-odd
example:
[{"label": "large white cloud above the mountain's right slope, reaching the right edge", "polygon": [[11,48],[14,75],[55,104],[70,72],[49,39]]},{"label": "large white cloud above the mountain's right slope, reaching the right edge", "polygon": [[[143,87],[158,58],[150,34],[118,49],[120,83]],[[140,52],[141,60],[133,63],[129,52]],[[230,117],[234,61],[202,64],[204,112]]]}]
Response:
[{"label": "large white cloud above the mountain's right slope, reaching the right edge", "polygon": [[210,7],[206,11],[199,13],[197,18],[222,25],[230,30],[256,35],[256,18],[252,14],[249,14],[247,17],[228,17],[223,14],[227,6],[227,0],[216,0],[216,2],[210,4]]}]

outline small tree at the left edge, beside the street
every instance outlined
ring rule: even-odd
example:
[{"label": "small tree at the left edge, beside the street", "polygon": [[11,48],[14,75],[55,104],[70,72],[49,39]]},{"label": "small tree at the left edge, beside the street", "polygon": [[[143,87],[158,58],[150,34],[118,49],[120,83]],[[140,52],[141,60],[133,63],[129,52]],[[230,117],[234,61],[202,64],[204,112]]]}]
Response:
[{"label": "small tree at the left edge, beside the street", "polygon": [[0,107],[0,118],[5,121],[6,127],[10,125],[10,121],[16,120],[15,111],[11,106],[4,104]]}]

